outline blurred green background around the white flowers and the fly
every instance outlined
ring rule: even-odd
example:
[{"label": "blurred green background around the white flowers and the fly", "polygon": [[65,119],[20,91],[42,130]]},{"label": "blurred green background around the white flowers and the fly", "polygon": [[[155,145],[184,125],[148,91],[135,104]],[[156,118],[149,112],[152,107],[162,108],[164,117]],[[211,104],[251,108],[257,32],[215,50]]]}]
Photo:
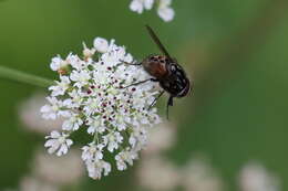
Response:
[{"label": "blurred green background around the white flowers and the fly", "polygon": [[[179,0],[164,23],[156,11],[136,14],[130,0],[0,1],[1,65],[53,79],[51,57],[81,53],[82,42],[115,39],[135,57],[158,50],[144,24],[157,31],[171,54],[194,79],[194,94],[177,99],[171,120],[178,141],[168,157],[182,166],[207,153],[236,190],[248,160],[261,161],[288,189],[288,2],[287,0]],[[41,88],[0,79],[0,190],[16,188],[29,171],[43,136],[24,131],[18,105]],[[43,89],[42,89],[43,91]],[[160,107],[166,98],[162,98]],[[133,168],[80,190],[134,190]]]}]

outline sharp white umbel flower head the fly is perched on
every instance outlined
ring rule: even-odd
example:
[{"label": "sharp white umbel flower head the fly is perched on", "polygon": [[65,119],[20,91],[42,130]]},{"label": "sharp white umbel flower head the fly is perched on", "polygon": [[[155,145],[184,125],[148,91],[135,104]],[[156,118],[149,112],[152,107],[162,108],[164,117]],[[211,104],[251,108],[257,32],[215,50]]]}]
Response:
[{"label": "sharp white umbel flower head the fly is perched on", "polygon": [[84,129],[91,142],[82,148],[82,160],[89,176],[107,176],[114,156],[119,170],[125,170],[146,145],[147,130],[161,121],[152,107],[158,94],[154,83],[130,86],[150,78],[142,66],[130,65],[133,57],[124,46],[102,38],[94,47],[84,44],[83,56],[70,53],[65,59],[53,57],[52,71],[59,81],[49,87],[49,102],[41,108],[45,119],[64,118],[62,131],[52,131],[45,138],[49,153],[65,155],[73,145],[70,136]]}]

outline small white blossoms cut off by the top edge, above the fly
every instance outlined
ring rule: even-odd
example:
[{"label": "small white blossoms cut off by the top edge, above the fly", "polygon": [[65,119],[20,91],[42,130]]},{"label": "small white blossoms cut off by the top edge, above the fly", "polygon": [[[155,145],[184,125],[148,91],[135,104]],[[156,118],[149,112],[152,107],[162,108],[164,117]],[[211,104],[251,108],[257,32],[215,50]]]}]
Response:
[{"label": "small white blossoms cut off by the top edge, above the fly", "polygon": [[173,20],[175,12],[171,8],[172,0],[132,0],[130,9],[142,13],[144,10],[151,10],[154,3],[158,3],[157,13],[165,22]]}]

